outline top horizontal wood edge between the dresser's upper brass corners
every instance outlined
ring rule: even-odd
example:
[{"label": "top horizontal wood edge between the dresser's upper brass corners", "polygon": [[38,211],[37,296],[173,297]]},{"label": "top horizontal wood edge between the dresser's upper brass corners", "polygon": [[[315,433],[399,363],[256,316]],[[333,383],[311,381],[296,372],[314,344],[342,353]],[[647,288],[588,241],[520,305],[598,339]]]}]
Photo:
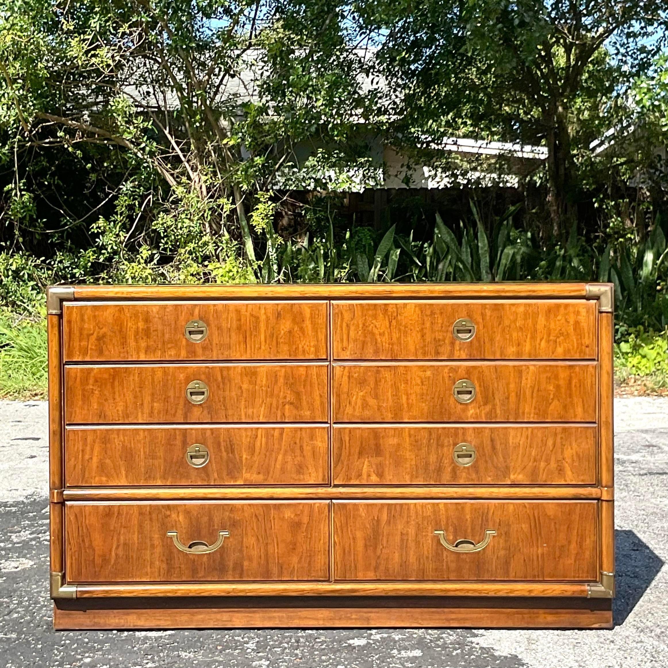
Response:
[{"label": "top horizontal wood edge between the dresser's upper brass corners", "polygon": [[291,283],[288,285],[75,285],[74,299],[340,299],[341,297],[587,296],[586,283]]}]

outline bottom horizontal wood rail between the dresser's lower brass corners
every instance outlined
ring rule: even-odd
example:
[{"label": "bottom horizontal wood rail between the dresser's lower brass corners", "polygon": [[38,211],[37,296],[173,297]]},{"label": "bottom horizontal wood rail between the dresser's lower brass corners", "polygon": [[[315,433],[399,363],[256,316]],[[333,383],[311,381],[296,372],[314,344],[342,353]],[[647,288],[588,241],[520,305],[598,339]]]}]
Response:
[{"label": "bottom horizontal wood rail between the dresser's lower brass corners", "polygon": [[77,585],[77,598],[215,596],[587,597],[582,582],[192,582]]}]

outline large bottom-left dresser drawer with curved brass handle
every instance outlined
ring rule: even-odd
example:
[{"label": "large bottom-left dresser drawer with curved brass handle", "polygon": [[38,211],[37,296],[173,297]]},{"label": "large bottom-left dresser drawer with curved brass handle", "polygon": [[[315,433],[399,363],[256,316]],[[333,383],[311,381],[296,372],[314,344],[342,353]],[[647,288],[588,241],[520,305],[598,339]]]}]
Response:
[{"label": "large bottom-left dresser drawer with curved brass handle", "polygon": [[328,545],[327,502],[65,504],[73,582],[325,580]]}]

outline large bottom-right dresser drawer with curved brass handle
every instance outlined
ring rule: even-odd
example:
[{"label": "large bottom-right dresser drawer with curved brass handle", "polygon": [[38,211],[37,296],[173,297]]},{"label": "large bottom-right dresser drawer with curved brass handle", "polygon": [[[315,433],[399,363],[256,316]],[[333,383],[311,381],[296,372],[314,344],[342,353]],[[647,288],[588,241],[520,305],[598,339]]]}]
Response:
[{"label": "large bottom-right dresser drawer with curved brass handle", "polygon": [[334,577],[595,580],[597,526],[595,501],[335,502]]}]

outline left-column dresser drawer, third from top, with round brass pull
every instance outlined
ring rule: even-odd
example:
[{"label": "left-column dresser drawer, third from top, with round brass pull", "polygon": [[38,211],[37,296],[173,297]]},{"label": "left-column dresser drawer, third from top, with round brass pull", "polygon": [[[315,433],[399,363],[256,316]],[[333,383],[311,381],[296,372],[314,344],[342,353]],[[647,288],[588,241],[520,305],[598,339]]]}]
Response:
[{"label": "left-column dresser drawer, third from top, with round brass pull", "polygon": [[329,483],[327,426],[67,428],[67,486]]}]

